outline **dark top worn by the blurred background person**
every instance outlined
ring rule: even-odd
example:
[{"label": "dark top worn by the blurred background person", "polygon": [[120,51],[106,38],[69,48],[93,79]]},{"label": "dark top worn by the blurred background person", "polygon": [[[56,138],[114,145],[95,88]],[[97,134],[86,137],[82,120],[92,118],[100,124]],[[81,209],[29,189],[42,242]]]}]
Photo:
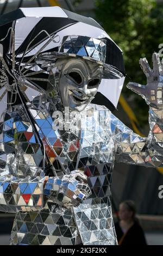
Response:
[{"label": "dark top worn by the blurred background person", "polygon": [[[117,234],[118,243],[120,242],[122,236],[124,235],[119,222],[115,223],[115,230]],[[145,235],[139,223],[135,221],[132,227],[127,231],[126,235],[123,237],[121,245],[147,245]]]}]

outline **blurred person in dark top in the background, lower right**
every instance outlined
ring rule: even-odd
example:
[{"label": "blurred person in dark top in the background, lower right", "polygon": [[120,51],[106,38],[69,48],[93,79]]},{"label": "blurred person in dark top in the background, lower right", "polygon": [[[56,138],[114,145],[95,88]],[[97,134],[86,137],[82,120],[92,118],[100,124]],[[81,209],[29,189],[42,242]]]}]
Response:
[{"label": "blurred person in dark top in the background, lower right", "polygon": [[115,223],[118,245],[147,245],[144,232],[135,215],[136,207],[132,200],[120,204],[120,220]]}]

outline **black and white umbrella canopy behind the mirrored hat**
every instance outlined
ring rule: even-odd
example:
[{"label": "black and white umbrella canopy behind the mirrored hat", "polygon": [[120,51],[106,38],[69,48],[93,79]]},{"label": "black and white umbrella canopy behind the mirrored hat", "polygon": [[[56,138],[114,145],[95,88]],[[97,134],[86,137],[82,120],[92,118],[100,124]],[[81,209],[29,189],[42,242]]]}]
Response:
[{"label": "black and white umbrella canopy behind the mirrored hat", "polygon": [[0,27],[2,112],[8,104],[19,102],[17,84],[26,102],[32,101],[42,89],[46,90],[48,72],[42,70],[35,59],[40,53],[58,51],[66,35],[105,39],[105,63],[123,75],[109,80],[103,77],[92,103],[116,108],[124,82],[122,51],[95,20],[60,7],[20,8],[0,16]]}]

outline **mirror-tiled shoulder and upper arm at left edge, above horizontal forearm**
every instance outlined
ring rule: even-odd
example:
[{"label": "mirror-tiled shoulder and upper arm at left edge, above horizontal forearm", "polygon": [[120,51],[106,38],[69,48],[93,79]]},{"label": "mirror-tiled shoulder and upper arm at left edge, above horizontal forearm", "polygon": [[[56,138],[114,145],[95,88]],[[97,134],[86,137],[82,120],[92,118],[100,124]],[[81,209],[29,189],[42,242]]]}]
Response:
[{"label": "mirror-tiled shoulder and upper arm at left edge, above horizontal forearm", "polygon": [[0,127],[0,174],[38,175],[43,153],[23,106],[5,109]]}]

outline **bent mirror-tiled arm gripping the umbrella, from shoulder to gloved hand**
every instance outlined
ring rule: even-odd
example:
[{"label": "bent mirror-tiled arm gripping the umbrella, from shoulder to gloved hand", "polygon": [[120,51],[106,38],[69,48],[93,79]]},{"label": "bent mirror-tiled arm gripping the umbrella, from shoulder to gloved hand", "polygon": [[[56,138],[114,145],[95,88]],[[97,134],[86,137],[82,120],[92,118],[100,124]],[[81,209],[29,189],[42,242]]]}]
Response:
[{"label": "bent mirror-tiled arm gripping the umbrella, from shoulder to gloved hand", "polygon": [[60,178],[43,177],[44,152],[22,106],[7,110],[0,125],[1,211],[35,211],[47,200],[68,207],[89,196],[89,187],[76,179],[86,176],[77,171]]}]

